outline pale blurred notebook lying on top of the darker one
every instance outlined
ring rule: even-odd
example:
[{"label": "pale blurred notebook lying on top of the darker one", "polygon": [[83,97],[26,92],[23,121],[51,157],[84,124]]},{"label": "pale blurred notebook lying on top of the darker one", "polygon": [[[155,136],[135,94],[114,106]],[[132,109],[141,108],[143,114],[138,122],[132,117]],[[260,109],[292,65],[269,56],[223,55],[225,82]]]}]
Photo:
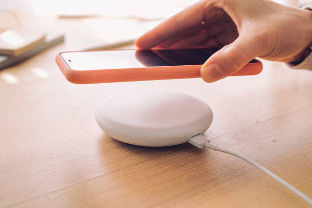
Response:
[{"label": "pale blurred notebook lying on top of the darker one", "polygon": [[0,54],[19,56],[44,41],[45,34],[35,30],[7,30],[0,33]]}]

